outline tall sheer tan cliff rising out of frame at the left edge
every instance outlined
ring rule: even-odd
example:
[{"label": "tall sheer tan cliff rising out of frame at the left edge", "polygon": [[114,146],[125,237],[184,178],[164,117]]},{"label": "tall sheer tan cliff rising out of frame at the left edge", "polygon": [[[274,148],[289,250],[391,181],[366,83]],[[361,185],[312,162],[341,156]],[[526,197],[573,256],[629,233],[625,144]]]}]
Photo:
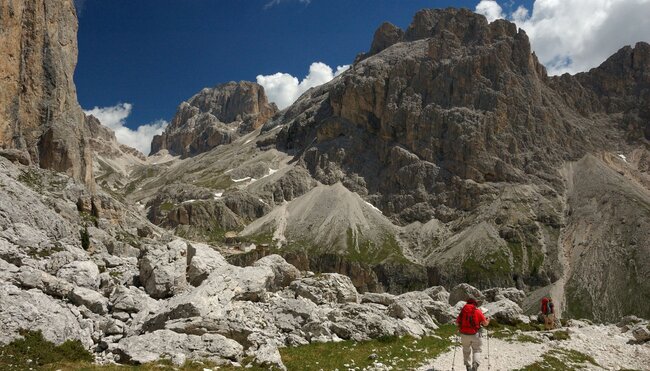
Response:
[{"label": "tall sheer tan cliff rising out of frame at the left edge", "polygon": [[0,24],[0,146],[29,151],[41,167],[92,186],[91,152],[73,82],[73,1],[3,1]]}]

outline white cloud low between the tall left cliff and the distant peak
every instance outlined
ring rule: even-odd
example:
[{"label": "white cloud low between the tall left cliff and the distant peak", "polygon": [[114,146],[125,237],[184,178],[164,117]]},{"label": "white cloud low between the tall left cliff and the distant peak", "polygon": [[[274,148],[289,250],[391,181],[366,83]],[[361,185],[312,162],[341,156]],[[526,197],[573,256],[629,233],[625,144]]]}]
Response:
[{"label": "white cloud low between the tall left cliff and the distant peak", "polygon": [[161,134],[167,126],[167,121],[157,120],[146,125],[140,125],[133,130],[126,127],[126,119],[131,114],[133,105],[130,103],[117,104],[113,107],[95,107],[84,111],[86,115],[95,116],[102,125],[115,132],[117,141],[138,151],[149,154],[151,152],[151,139],[154,135]]}]

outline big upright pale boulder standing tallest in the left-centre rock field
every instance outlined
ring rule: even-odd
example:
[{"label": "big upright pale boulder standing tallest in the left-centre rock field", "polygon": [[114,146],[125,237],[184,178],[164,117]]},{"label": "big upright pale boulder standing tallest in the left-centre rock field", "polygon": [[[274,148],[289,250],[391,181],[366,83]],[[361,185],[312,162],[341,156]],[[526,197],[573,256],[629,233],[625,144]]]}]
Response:
[{"label": "big upright pale boulder standing tallest in the left-centre rock field", "polygon": [[174,240],[165,247],[149,246],[140,259],[140,280],[156,299],[167,298],[187,287],[187,244]]}]

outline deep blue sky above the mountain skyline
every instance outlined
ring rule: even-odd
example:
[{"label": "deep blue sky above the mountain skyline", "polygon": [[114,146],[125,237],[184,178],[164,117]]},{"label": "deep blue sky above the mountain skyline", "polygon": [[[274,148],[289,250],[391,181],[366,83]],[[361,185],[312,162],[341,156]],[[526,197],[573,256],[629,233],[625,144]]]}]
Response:
[{"label": "deep blue sky above the mountain skyline", "polygon": [[[159,119],[170,120],[181,101],[206,86],[231,80],[255,81],[258,75],[277,72],[302,79],[314,62],[334,69],[349,64],[357,53],[369,48],[381,22],[405,28],[422,8],[454,6],[474,10],[480,2],[492,18],[519,17],[522,26],[528,22],[529,28],[524,28],[538,38],[553,34],[538,27],[548,24],[546,18],[560,19],[562,13],[577,11],[576,21],[564,19],[556,28],[575,24],[578,31],[584,32],[580,20],[587,22],[589,12],[603,10],[589,5],[594,0],[563,0],[560,3],[574,8],[554,5],[550,10],[534,8],[533,0],[275,0],[273,4],[271,0],[76,1],[80,15],[75,73],[79,102],[84,109],[129,103],[129,112],[120,116],[119,124],[133,129]],[[613,2],[650,6],[650,0]],[[535,6],[558,2],[537,3]],[[521,5],[528,13],[515,14]],[[535,22],[534,9],[538,21],[545,22]],[[639,9],[632,11],[638,13]],[[632,28],[627,33],[633,36],[644,32]],[[555,50],[556,39],[566,33],[559,30],[544,43],[533,40],[533,47],[549,49],[549,60],[580,61],[570,55],[577,49],[575,45],[568,45],[567,51]],[[571,37],[576,39],[575,35]],[[620,41],[613,40],[612,44],[619,45]],[[610,50],[607,53],[611,54]],[[598,55],[592,59],[602,58]]]}]

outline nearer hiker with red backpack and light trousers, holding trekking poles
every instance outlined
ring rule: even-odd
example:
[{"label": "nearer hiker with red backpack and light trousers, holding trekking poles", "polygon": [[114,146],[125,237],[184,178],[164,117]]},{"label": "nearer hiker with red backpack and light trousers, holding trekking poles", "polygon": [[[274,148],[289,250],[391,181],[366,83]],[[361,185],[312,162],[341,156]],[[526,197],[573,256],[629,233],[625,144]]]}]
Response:
[{"label": "nearer hiker with red backpack and light trousers, holding trekking poles", "polygon": [[[485,318],[483,312],[478,309],[476,299],[469,298],[456,318],[456,325],[460,332],[461,343],[463,344],[463,360],[467,371],[476,371],[481,363],[481,326],[487,326],[490,320]],[[473,357],[470,356],[471,355]],[[472,360],[473,358],[473,360]]]}]

